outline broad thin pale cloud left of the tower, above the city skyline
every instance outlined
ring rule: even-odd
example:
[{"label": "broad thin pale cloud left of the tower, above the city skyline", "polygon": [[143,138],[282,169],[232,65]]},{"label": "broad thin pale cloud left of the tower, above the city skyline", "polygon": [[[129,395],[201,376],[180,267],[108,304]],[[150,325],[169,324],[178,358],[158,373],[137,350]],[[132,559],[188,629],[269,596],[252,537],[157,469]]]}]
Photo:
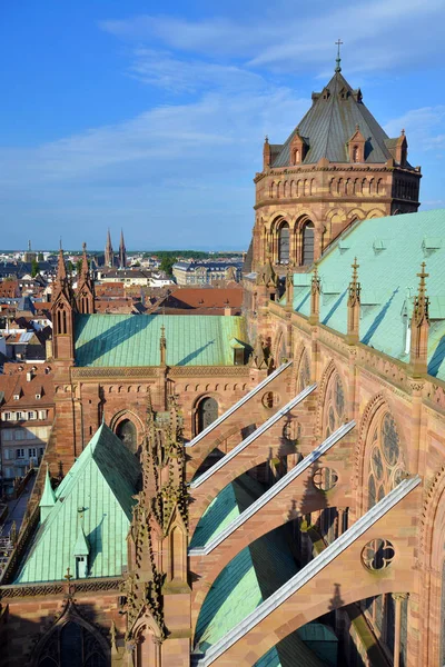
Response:
[{"label": "broad thin pale cloud left of the tower, above the city skyline", "polygon": [[129,247],[247,247],[264,136],[283,141],[308,106],[280,88],[212,92],[37,148],[0,149],[9,236],[32,220],[49,243],[62,225],[63,242],[79,247],[100,247],[107,226],[130,230]]}]

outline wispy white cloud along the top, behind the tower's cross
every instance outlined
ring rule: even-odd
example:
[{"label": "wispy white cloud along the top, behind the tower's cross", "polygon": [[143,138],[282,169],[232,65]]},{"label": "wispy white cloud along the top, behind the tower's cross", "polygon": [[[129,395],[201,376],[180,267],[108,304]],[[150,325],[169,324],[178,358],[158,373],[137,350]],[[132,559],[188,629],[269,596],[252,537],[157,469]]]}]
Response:
[{"label": "wispy white cloud along the top, behind the tower's cross", "polygon": [[249,21],[139,16],[103,21],[101,28],[139,43],[155,40],[194,54],[244,59],[250,68],[310,68],[318,73],[334,62],[334,41],[340,34],[348,72],[368,72],[437,63],[444,53],[444,19],[443,0],[411,0],[409,6],[405,0],[347,0],[339,6],[323,0],[298,11],[294,1],[285,0]]}]

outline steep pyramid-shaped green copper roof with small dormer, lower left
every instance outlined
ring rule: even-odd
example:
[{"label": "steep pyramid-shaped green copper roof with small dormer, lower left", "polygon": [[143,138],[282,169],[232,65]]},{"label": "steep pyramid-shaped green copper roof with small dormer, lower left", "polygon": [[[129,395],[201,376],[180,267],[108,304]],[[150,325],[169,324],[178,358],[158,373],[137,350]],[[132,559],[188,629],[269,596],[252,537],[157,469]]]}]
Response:
[{"label": "steep pyramid-shaped green copper roof with small dormer, lower left", "polygon": [[[76,548],[88,555],[89,577],[120,576],[127,566],[127,534],[139,464],[102,424],[56,489],[56,505],[40,524],[16,584],[60,581],[76,573]],[[79,545],[79,532],[86,544]],[[86,555],[86,554],[85,554]]]}]

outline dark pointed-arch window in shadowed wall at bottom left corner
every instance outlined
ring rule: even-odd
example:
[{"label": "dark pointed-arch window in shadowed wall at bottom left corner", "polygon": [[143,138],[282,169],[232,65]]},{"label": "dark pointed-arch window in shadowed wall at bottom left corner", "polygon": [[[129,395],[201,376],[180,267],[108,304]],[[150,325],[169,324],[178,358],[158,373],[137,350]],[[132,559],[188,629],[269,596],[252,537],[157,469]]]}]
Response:
[{"label": "dark pointed-arch window in shadowed wall at bottom left corner", "polygon": [[38,667],[108,667],[109,657],[92,633],[68,621],[51,633],[40,651]]}]

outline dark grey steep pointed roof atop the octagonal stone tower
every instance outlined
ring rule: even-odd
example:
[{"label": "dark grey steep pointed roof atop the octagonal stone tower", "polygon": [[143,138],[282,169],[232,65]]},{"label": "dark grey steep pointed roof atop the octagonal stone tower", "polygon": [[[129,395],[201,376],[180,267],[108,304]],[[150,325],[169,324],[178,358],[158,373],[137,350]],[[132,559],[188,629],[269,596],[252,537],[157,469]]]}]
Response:
[{"label": "dark grey steep pointed roof atop the octagonal stone tower", "polygon": [[347,142],[357,126],[366,139],[365,162],[384,163],[392,158],[388,136],[363,103],[360,91],[353,90],[340,72],[334,74],[322,93],[313,93],[313,101],[309,111],[273,159],[271,167],[290,163],[289,147],[297,131],[309,146],[305,165],[314,165],[322,158],[330,162],[349,162]]}]

